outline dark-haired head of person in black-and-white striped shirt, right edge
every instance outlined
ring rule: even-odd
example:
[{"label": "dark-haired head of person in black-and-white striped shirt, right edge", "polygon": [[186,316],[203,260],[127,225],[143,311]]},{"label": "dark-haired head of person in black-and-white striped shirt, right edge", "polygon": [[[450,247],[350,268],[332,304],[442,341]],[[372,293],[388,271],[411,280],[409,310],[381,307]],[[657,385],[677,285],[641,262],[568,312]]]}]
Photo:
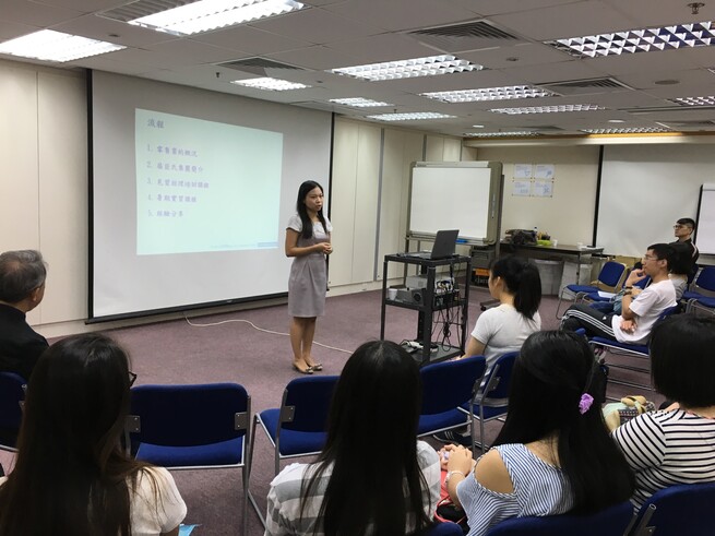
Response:
[{"label": "dark-haired head of person in black-and-white striped shirt, right edge", "polygon": [[715,406],[715,318],[674,314],[651,333],[653,384],[682,407]]}]

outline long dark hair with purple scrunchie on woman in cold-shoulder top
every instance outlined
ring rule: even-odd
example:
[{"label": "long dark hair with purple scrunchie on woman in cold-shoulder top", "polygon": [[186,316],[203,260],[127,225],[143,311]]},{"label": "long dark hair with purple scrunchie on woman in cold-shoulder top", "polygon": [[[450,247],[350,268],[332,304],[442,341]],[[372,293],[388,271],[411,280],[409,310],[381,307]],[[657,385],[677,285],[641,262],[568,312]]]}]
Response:
[{"label": "long dark hair with purple scrunchie on woman in cold-shoulder top", "polygon": [[[633,495],[634,476],[608,436],[599,394],[605,381],[583,336],[532,334],[514,362],[509,414],[494,444],[558,438],[558,455],[576,513],[601,510]],[[581,395],[594,397],[583,415]]]}]

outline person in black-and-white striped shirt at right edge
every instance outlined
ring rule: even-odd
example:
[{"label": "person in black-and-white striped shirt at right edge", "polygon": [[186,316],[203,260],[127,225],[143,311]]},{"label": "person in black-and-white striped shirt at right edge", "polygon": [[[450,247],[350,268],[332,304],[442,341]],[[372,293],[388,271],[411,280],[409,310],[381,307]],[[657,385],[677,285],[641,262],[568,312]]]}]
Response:
[{"label": "person in black-and-white striped shirt at right edge", "polygon": [[635,472],[641,507],[659,489],[715,481],[715,318],[677,314],[651,334],[651,373],[657,392],[676,401],[612,432]]}]

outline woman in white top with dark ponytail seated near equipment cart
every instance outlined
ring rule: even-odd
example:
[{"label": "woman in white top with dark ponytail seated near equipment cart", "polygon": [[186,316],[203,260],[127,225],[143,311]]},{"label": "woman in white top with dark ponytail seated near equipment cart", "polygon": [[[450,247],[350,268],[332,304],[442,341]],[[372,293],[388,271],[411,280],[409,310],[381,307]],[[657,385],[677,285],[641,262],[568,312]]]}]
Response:
[{"label": "woman in white top with dark ponytail seated near equipment cart", "polygon": [[489,293],[499,306],[479,315],[465,352],[465,357],[484,355],[487,370],[499,356],[517,350],[541,329],[539,272],[526,259],[499,259],[489,270]]}]

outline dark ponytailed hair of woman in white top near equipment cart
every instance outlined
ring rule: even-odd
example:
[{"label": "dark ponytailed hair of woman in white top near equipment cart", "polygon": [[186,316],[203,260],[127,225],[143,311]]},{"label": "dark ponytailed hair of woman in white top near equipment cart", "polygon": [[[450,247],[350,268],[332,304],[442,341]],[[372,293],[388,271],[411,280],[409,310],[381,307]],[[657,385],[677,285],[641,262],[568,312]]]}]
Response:
[{"label": "dark ponytailed hair of woman in white top near equipment cart", "polygon": [[539,271],[526,259],[503,257],[491,265],[492,277],[501,277],[507,290],[514,295],[514,308],[529,320],[541,303]]}]

